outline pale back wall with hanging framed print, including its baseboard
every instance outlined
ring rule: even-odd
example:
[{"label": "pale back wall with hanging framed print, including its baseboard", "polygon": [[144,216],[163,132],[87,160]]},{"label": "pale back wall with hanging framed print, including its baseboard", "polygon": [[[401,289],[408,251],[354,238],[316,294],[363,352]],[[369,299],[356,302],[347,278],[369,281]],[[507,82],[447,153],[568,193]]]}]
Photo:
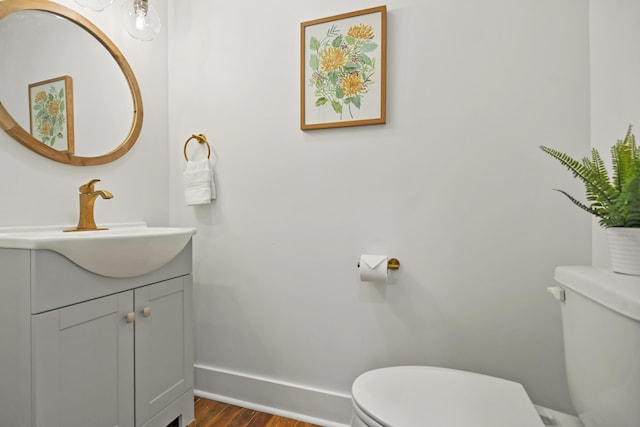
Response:
[{"label": "pale back wall with hanging framed print, including its baseboard", "polygon": [[[589,150],[588,4],[386,4],[387,124],[309,132],[300,22],[377,3],[170,5],[170,220],[198,228],[198,388],[345,422],[358,374],[428,364],[572,412],[545,287],[554,266],[590,262],[591,223],[552,191],[581,187],[538,146]],[[213,145],[219,197],[187,207],[193,133]],[[367,252],[400,259],[394,283],[358,281]]]}]

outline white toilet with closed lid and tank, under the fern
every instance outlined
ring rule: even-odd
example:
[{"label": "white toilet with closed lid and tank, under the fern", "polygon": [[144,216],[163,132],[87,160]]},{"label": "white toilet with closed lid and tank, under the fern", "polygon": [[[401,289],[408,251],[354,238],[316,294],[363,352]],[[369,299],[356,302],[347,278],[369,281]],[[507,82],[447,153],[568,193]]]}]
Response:
[{"label": "white toilet with closed lid and tank, under the fern", "polygon": [[640,276],[558,267],[565,364],[579,419],[534,405],[522,385],[430,366],[365,372],[352,427],[640,427]]}]

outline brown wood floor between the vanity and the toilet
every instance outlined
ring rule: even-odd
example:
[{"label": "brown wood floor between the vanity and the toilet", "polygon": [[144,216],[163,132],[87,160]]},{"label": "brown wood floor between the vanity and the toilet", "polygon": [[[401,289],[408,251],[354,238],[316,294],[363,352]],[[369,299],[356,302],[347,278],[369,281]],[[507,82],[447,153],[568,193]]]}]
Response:
[{"label": "brown wood floor between the vanity and the toilet", "polygon": [[188,427],[320,427],[203,397],[195,399],[195,417]]}]

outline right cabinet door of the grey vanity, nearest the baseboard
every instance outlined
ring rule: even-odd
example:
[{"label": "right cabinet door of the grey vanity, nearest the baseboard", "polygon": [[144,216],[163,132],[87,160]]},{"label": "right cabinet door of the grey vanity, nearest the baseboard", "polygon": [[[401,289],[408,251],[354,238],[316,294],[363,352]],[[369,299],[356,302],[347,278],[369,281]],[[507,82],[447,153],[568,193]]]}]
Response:
[{"label": "right cabinet door of the grey vanity, nearest the baseboard", "polygon": [[191,276],[135,290],[136,425],[193,387]]}]

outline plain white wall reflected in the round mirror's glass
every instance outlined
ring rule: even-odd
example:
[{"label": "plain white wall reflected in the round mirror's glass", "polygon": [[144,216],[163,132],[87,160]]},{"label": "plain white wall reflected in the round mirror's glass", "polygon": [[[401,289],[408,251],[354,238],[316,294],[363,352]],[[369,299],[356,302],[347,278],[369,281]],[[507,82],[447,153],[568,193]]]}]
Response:
[{"label": "plain white wall reflected in the round mirror's glass", "polygon": [[75,154],[104,154],[127,136],[133,116],[127,81],[109,52],[81,27],[48,12],[12,13],[0,20],[0,57],[11,58],[2,61],[0,99],[25,130],[29,85],[66,75],[73,81]]}]

